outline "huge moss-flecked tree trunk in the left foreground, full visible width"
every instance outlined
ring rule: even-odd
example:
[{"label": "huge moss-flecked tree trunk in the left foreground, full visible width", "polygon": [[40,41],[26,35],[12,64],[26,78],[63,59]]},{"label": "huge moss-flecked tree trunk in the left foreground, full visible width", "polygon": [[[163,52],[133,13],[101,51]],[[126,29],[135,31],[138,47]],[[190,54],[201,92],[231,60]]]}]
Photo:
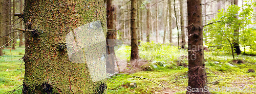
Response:
[{"label": "huge moss-flecked tree trunk in the left foreground, full visible width", "polygon": [[105,93],[103,0],[26,0],[24,22],[23,93]]}]

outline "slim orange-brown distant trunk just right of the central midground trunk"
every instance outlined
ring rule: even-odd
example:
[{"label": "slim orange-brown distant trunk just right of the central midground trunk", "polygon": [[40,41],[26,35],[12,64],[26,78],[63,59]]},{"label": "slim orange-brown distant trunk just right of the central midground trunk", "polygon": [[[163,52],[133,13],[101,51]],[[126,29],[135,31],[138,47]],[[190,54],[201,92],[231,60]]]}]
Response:
[{"label": "slim orange-brown distant trunk just right of the central midground trunk", "polygon": [[146,42],[150,42],[150,3],[146,5]]}]

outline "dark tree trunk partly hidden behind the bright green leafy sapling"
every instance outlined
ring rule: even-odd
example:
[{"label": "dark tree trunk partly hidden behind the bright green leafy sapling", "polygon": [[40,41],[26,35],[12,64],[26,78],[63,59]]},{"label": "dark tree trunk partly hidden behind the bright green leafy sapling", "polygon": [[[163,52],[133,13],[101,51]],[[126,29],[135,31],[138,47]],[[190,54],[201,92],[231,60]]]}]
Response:
[{"label": "dark tree trunk partly hidden behind the bright green leafy sapling", "polygon": [[[238,0],[234,0],[234,5],[238,6]],[[238,16],[236,16],[236,19],[238,19]],[[239,55],[242,52],[240,50],[240,46],[239,46],[239,29],[234,30],[234,35],[236,36],[237,41],[233,42],[233,45],[234,45],[233,48],[234,48],[235,52]]]}]

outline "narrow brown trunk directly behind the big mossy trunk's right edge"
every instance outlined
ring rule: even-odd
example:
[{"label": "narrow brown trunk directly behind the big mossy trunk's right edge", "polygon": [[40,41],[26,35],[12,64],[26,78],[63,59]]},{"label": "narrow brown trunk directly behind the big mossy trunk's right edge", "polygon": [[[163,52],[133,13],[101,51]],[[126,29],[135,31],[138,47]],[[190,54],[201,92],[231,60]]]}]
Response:
[{"label": "narrow brown trunk directly behind the big mossy trunk's right edge", "polygon": [[[108,29],[115,29],[114,24],[114,7],[112,5],[112,0],[106,0],[106,25]],[[112,30],[108,31],[106,34],[106,53],[108,57],[106,58],[106,72],[114,74],[115,72],[115,33]]]}]

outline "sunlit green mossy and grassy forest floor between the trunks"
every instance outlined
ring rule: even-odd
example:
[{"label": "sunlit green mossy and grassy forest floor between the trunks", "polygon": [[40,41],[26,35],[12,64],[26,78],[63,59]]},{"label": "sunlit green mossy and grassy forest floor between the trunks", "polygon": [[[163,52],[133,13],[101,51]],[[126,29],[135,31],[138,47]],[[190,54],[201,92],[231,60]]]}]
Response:
[{"label": "sunlit green mossy and grassy forest floor between the trunks", "polygon": [[[136,63],[130,62],[131,47],[123,45],[116,51],[118,65],[121,72],[131,73],[134,76],[151,79],[162,86],[149,80],[132,77],[129,75],[113,76],[109,79],[108,93],[185,93],[187,87],[187,51],[178,50],[177,47],[167,44],[143,43],[139,47],[141,60]],[[16,50],[4,49],[4,56],[0,56],[0,93],[13,90],[23,84],[25,53],[24,47]],[[208,88],[220,88],[210,90],[212,93],[256,93],[256,73],[247,72],[249,69],[256,70],[255,56],[236,55],[243,64],[233,61],[232,55],[222,51],[204,52]],[[127,64],[127,62],[129,62]],[[141,65],[143,65],[141,67]],[[177,66],[183,65],[183,66]],[[145,67],[150,66],[150,69]],[[21,71],[22,69],[22,71]],[[144,70],[144,71],[143,71]],[[120,81],[120,82],[119,82]],[[114,83],[113,83],[114,82]],[[128,83],[137,83],[137,87],[129,87]],[[214,83],[212,83],[214,82]],[[222,87],[239,88],[240,91],[223,89]],[[22,87],[19,87],[22,88]],[[243,88],[254,88],[253,92],[242,91]],[[228,91],[227,91],[228,90]],[[22,93],[17,90],[14,93]]]}]

